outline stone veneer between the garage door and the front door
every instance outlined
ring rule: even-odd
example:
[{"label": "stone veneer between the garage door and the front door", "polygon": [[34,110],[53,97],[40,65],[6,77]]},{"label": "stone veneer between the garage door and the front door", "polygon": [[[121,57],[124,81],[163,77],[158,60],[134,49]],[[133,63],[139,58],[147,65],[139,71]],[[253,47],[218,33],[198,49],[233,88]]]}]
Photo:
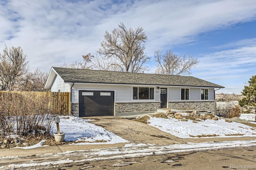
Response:
[{"label": "stone veneer between the garage door and the front door", "polygon": [[156,109],[160,109],[160,102],[129,102],[115,104],[116,113],[156,111]]}]

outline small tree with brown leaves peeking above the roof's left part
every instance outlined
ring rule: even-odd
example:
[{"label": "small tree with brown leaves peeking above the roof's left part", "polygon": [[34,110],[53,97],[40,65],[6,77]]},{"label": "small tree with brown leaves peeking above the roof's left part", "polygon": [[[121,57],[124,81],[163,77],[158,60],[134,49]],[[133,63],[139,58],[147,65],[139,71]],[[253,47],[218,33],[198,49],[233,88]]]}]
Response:
[{"label": "small tree with brown leaves peeking above the roof's left part", "polygon": [[91,55],[90,53],[87,55],[82,55],[83,57],[83,62],[73,62],[71,64],[62,64],[60,67],[64,68],[79,68],[79,69],[92,69],[93,64],[92,59],[94,58],[94,55]]}]

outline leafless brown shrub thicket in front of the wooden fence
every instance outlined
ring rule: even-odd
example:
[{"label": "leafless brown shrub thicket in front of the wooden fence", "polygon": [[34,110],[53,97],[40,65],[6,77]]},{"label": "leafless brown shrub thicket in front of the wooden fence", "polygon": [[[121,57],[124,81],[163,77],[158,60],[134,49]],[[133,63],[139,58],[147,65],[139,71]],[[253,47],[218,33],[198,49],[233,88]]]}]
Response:
[{"label": "leafless brown shrub thicket in front of the wooden fence", "polygon": [[2,93],[0,135],[50,135],[54,115],[60,114],[60,107],[52,107],[51,100],[34,93]]}]

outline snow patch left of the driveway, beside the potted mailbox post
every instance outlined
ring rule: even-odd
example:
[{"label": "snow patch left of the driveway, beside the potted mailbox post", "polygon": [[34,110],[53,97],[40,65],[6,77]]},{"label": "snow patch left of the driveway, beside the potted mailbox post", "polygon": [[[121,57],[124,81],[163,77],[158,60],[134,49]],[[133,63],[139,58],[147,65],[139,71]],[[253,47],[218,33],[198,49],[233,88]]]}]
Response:
[{"label": "snow patch left of the driveway, beside the potted mailbox post", "polygon": [[[76,143],[76,145],[90,144],[112,144],[127,143],[129,141],[115,135],[106,129],[89,123],[90,120],[81,119],[74,116],[60,117],[60,133],[65,133],[65,141],[84,141],[85,143]],[[57,127],[54,125],[53,133],[57,133]],[[105,142],[102,142],[105,141]],[[87,142],[87,143],[86,143]]]}]

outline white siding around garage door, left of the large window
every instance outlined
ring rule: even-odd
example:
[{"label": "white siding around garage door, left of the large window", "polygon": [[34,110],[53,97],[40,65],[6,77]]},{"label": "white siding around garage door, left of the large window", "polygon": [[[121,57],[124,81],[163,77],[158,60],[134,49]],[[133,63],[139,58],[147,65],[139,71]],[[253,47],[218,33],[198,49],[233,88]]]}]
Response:
[{"label": "white siding around garage door, left of the large window", "polygon": [[116,102],[132,101],[132,86],[75,84],[72,88],[72,102],[78,102],[78,90],[115,90]]}]

